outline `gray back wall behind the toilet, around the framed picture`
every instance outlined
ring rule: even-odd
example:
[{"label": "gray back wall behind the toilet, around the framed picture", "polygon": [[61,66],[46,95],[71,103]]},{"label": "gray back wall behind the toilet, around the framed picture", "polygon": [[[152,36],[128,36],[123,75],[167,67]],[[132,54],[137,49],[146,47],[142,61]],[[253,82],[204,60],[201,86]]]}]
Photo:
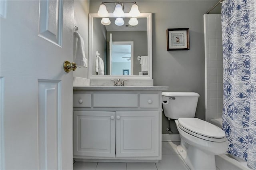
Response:
[{"label": "gray back wall behind the toilet, around the framed picture", "polygon": [[[90,13],[96,13],[101,2],[90,1]],[[152,13],[152,70],[154,85],[168,86],[169,91],[194,91],[199,93],[200,98],[196,117],[203,120],[205,119],[203,15],[217,2],[217,0],[136,1],[140,12]],[[220,14],[220,6],[212,13]],[[167,51],[167,28],[189,28],[190,50]],[[163,115],[163,134],[166,133],[167,127],[168,120]],[[174,121],[171,121],[171,128],[174,133],[178,133]]]}]

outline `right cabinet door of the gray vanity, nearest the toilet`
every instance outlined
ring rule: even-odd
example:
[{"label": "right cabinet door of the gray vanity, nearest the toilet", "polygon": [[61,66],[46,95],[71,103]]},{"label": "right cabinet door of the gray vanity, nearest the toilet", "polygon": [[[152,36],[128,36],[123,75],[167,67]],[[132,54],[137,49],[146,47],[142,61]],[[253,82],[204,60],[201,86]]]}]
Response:
[{"label": "right cabinet door of the gray vanity, nearest the toilet", "polygon": [[159,112],[116,112],[116,157],[159,156]]}]

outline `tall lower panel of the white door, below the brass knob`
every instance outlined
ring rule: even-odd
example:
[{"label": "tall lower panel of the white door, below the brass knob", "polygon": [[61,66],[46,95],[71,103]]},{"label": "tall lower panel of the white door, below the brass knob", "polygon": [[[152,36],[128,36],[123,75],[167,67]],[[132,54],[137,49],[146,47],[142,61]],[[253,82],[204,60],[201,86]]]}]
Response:
[{"label": "tall lower panel of the white door, below the brass knob", "polygon": [[60,81],[38,82],[38,163],[39,169],[61,167]]}]

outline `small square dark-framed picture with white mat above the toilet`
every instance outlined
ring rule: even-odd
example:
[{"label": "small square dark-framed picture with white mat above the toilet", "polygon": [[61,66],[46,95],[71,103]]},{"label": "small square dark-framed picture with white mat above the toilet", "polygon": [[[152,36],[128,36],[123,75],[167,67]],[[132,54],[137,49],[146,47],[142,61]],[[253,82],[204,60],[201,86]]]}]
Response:
[{"label": "small square dark-framed picture with white mat above the toilet", "polygon": [[189,50],[189,29],[188,28],[168,28],[167,51]]}]

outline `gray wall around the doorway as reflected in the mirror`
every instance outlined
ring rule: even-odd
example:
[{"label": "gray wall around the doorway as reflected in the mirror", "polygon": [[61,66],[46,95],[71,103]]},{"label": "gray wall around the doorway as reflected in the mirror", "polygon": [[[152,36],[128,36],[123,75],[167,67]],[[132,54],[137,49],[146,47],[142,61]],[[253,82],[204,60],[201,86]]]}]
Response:
[{"label": "gray wall around the doorway as reflected in the mirror", "polygon": [[110,41],[110,33],[112,34],[113,42],[120,41],[133,41],[133,74],[139,75],[141,71],[140,61],[138,61],[138,55],[148,55],[148,36],[146,31],[114,31],[107,32],[107,41]]}]

